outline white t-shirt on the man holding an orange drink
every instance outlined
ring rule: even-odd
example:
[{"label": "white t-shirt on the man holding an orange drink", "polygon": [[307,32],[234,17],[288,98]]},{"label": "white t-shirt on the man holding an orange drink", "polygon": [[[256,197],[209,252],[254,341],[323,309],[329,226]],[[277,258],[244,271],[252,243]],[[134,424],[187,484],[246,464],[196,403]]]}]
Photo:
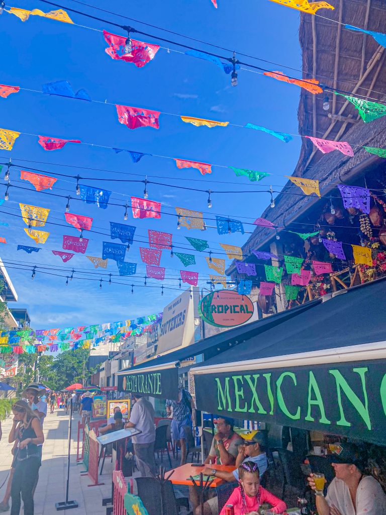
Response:
[{"label": "white t-shirt on the man holding an orange drink", "polygon": [[381,515],[386,513],[386,495],[382,487],[373,476],[365,476],[361,480],[357,490],[356,505],[348,490],[348,486],[342,479],[332,479],[326,495],[328,506],[334,504],[342,515]]}]

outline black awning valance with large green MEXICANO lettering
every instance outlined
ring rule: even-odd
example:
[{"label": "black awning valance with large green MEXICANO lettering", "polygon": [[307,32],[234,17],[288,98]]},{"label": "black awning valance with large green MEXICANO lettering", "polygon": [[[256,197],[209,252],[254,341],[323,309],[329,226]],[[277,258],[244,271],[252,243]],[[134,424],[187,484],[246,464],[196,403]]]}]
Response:
[{"label": "black awning valance with large green MEXICANO lettering", "polygon": [[197,408],[386,444],[384,360],[195,374]]}]

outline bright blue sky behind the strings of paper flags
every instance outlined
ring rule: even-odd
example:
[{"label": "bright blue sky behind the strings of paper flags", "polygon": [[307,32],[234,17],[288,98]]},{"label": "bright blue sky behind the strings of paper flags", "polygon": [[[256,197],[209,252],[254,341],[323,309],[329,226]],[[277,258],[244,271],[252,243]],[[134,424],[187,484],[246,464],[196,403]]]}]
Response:
[{"label": "bright blue sky behind the strings of paper flags", "polygon": [[[39,0],[9,1],[7,7],[51,10],[50,6]],[[109,9],[109,4],[101,0],[93,0],[93,4]],[[69,0],[66,0],[65,5],[124,25],[130,23],[139,30],[166,39],[190,44],[188,40],[178,36],[125,21],[119,16],[87,9]],[[229,0],[218,0],[218,5],[218,9],[215,9],[210,0],[133,0],[129,8],[127,2],[116,0],[114,11],[203,41],[235,48],[245,54],[300,68],[297,11],[278,6],[268,0],[240,0],[237,4]],[[79,25],[125,35],[120,29],[107,24],[71,12],[69,15]],[[93,100],[107,100],[113,104],[230,121],[242,126],[252,123],[283,132],[297,133],[296,111],[300,89],[292,85],[240,70],[238,86],[232,88],[230,76],[222,73],[214,64],[182,53],[167,53],[163,48],[153,61],[138,69],[133,64],[111,59],[104,52],[107,45],[101,32],[46,20],[39,16],[31,16],[23,23],[16,16],[3,13],[0,17],[0,26],[0,43],[3,49],[1,83],[41,91],[42,85],[47,82],[67,80],[73,90],[83,88]],[[156,38],[146,36],[137,36],[137,39],[159,43]],[[199,43],[193,46],[196,45],[202,50],[212,50],[211,47]],[[220,55],[228,56],[223,50],[218,52]],[[283,67],[265,65],[250,58],[243,59],[255,65],[267,66],[271,70],[286,72]],[[296,76],[300,77],[300,74]],[[2,128],[24,133],[79,139],[96,145],[277,174],[259,183],[259,186],[265,185],[267,189],[271,183],[276,185],[276,189],[277,186],[284,185],[286,180],[283,175],[292,173],[301,143],[300,138],[294,138],[292,142],[285,144],[268,134],[238,127],[194,127],[184,124],[178,117],[163,114],[160,116],[159,130],[130,130],[118,123],[114,106],[28,91],[12,94],[7,99],[0,98],[0,113]],[[197,170],[191,168],[177,169],[174,161],[169,159],[144,157],[141,162],[134,164],[126,152],[115,155],[112,150],[86,145],[68,144],[62,150],[48,152],[38,145],[36,137],[23,134],[16,140],[11,152],[0,150],[0,157],[0,162],[5,162],[11,157],[22,169],[23,165],[36,167],[45,170],[46,175],[55,171],[103,178],[145,179],[147,175],[150,180],[153,178],[159,182],[205,190],[210,188],[235,192],[259,189],[256,183],[251,183],[246,177],[237,178],[233,171],[227,168],[214,166],[212,175],[202,177]],[[20,161],[22,159],[38,161],[41,164]],[[68,165],[74,167],[69,168]],[[81,170],[77,166],[138,174],[139,177],[121,176],[108,171]],[[4,261],[14,260],[30,266],[27,271],[11,268],[11,265],[7,265],[7,269],[19,294],[17,305],[28,308],[34,329],[104,323],[155,313],[162,311],[163,306],[179,294],[178,290],[165,289],[162,297],[161,289],[134,287],[135,293],[131,295],[131,286],[109,286],[103,283],[100,289],[99,281],[76,279],[65,286],[65,278],[39,272],[32,281],[33,265],[61,268],[63,271],[55,272],[59,274],[66,274],[68,272],[64,269],[74,267],[80,271],[78,276],[82,277],[84,271],[94,272],[95,269],[83,254],[76,254],[71,261],[63,264],[58,256],[51,253],[51,250],[62,249],[63,234],[79,236],[79,232],[70,225],[63,228],[47,224],[42,228],[51,234],[45,245],[40,245],[42,250],[39,253],[27,254],[22,250],[16,251],[18,244],[35,246],[35,243],[23,231],[26,227],[23,220],[5,214],[4,211],[20,214],[19,202],[37,205],[51,210],[48,221],[65,225],[66,201],[38,193],[28,182],[16,182],[20,181],[20,171],[19,168],[13,170],[11,182],[29,189],[23,191],[10,188],[9,201],[0,208],[0,220],[9,224],[9,227],[2,227],[1,235],[6,237],[8,243],[1,246],[0,256]],[[82,182],[87,184],[86,180]],[[112,191],[113,201],[121,204],[126,200],[130,201],[130,195],[143,196],[143,184],[108,181],[93,181],[90,184]],[[3,196],[4,191],[5,188],[2,187],[0,195]],[[208,210],[205,193],[151,184],[148,191],[149,199],[162,202],[163,209],[167,212],[174,212],[173,208],[177,205],[204,213],[209,211],[208,216],[212,218],[215,214],[221,214],[249,222],[260,216],[269,203],[267,193],[230,193],[213,195],[213,208]],[[58,179],[52,193],[75,196],[75,181]],[[109,232],[110,221],[124,223],[124,209],[120,207],[110,205],[107,210],[100,210],[94,205],[77,201],[71,204],[70,211],[93,217],[93,227],[106,233]],[[248,234],[239,233],[219,236],[216,229],[210,228],[206,232],[188,231],[184,228],[177,231],[176,218],[166,215],[160,220],[134,220],[129,212],[126,223],[137,227],[135,237],[140,238],[144,242],[142,246],[145,247],[148,246],[148,229],[172,232],[173,244],[186,248],[189,245],[184,236],[207,239],[214,252],[223,252],[219,243],[242,245],[248,238]],[[208,225],[213,225],[213,222]],[[244,226],[244,229],[252,230],[251,226]],[[86,254],[101,256],[102,241],[110,241],[110,238],[95,233],[91,233],[89,237]],[[137,276],[141,276],[141,280],[135,277],[134,283],[142,282],[145,275],[145,265],[139,257],[138,247],[138,243],[134,244],[126,256],[126,261],[138,263]],[[187,270],[199,271],[202,279],[209,273],[216,273],[207,268],[204,256],[194,249],[191,249],[191,252],[180,251],[196,254],[197,265],[190,266]],[[229,264],[229,260],[226,264]],[[164,251],[161,266],[167,268],[167,277],[173,277],[165,281],[165,286],[178,288],[179,270],[184,269],[178,258],[170,258],[169,252]],[[99,271],[106,272],[102,269],[98,269],[98,273]],[[108,271],[117,274],[114,261],[109,261]],[[99,279],[101,276],[91,277]],[[129,283],[131,280],[127,278],[125,282]],[[148,280],[148,285],[151,284],[161,285],[158,281]],[[202,282],[200,284],[202,285]]]}]

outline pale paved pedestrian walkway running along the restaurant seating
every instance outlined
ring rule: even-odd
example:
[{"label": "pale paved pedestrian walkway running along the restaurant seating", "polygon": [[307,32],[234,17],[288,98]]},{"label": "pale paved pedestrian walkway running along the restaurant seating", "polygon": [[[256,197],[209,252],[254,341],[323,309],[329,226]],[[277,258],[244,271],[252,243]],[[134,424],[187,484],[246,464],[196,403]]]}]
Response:
[{"label": "pale paved pedestrian walkway running along the restaurant seating", "polygon": [[[102,499],[111,496],[111,459],[104,463],[103,474],[99,478],[101,486],[89,487],[89,476],[81,476],[83,464],[76,464],[76,442],[79,416],[73,415],[71,461],[69,469],[69,501],[77,501],[79,508],[56,511],[55,503],[65,501],[67,482],[68,454],[68,422],[69,415],[64,409],[56,409],[54,414],[48,414],[43,425],[44,445],[43,461],[39,472],[39,483],[34,495],[35,515],[106,515]],[[2,422],[3,437],[0,442],[0,485],[4,482],[11,467],[12,444],[8,443],[8,435],[12,426],[12,416]],[[3,499],[6,484],[0,491]],[[8,512],[9,513],[9,512]],[[23,513],[23,510],[21,511]]]}]

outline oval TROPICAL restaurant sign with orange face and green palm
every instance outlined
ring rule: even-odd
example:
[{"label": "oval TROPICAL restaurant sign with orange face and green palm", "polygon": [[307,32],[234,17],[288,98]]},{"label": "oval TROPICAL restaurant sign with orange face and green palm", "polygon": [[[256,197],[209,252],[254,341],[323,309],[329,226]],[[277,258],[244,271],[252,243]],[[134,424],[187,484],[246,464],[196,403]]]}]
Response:
[{"label": "oval TROPICAL restaurant sign with orange face and green palm", "polygon": [[253,315],[253,303],[237,291],[218,290],[201,300],[199,313],[205,322],[216,327],[235,327],[248,322]]}]

